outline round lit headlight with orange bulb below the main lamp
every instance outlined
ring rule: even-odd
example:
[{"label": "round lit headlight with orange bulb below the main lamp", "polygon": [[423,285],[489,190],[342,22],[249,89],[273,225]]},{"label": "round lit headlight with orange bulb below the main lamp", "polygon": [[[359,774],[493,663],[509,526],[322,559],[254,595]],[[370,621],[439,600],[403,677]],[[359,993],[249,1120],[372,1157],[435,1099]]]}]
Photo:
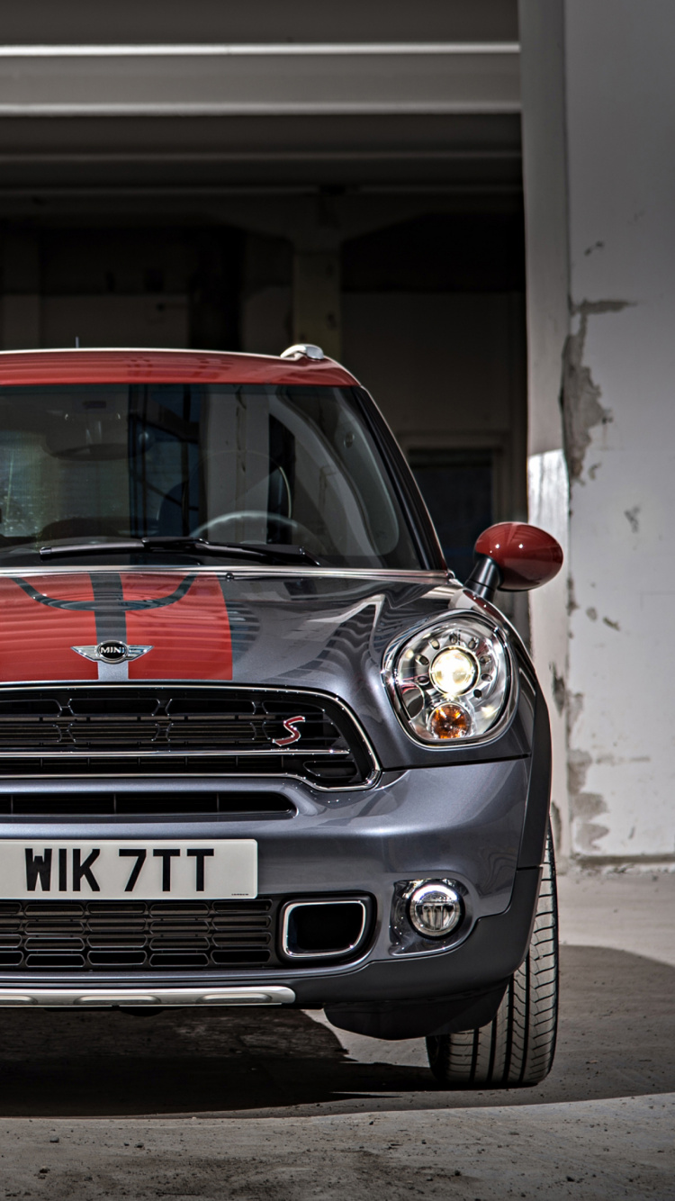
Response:
[{"label": "round lit headlight with orange bulb below the main lamp", "polygon": [[480,739],[508,701],[506,639],[483,617],[458,613],[393,647],[384,679],[404,725],[422,742]]}]

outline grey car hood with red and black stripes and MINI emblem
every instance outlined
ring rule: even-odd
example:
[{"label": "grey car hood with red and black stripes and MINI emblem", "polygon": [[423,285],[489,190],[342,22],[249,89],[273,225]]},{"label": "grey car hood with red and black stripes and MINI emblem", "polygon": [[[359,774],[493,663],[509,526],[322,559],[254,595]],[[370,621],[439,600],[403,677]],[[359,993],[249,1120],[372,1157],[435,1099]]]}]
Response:
[{"label": "grey car hood with red and black stripes and MINI emblem", "polygon": [[[384,651],[410,629],[476,608],[486,607],[435,572],[24,569],[0,576],[0,685],[181,680],[312,688],[344,700],[376,748],[388,748],[384,759],[400,759],[412,740],[382,685]],[[97,659],[109,643],[138,657]]]}]

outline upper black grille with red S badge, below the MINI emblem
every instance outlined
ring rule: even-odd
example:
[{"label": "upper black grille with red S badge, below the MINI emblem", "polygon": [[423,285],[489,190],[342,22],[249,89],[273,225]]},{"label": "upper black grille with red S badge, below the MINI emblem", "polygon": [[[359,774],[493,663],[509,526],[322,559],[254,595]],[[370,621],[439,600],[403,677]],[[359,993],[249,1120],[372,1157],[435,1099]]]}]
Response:
[{"label": "upper black grille with red S badge, below the MINI emblem", "polygon": [[374,771],[350,715],[315,693],[102,683],[0,693],[0,776],[294,775],[339,788]]}]

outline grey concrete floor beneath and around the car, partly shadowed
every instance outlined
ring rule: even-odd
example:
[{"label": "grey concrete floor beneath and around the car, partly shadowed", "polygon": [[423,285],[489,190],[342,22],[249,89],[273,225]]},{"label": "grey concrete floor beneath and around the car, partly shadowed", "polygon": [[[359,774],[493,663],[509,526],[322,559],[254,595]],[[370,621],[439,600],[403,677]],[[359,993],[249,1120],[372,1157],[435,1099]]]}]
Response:
[{"label": "grey concrete floor beneath and around the car, partly shadowed", "polygon": [[288,1010],[0,1014],[0,1199],[675,1199],[675,873],[561,878],[536,1089]]}]

